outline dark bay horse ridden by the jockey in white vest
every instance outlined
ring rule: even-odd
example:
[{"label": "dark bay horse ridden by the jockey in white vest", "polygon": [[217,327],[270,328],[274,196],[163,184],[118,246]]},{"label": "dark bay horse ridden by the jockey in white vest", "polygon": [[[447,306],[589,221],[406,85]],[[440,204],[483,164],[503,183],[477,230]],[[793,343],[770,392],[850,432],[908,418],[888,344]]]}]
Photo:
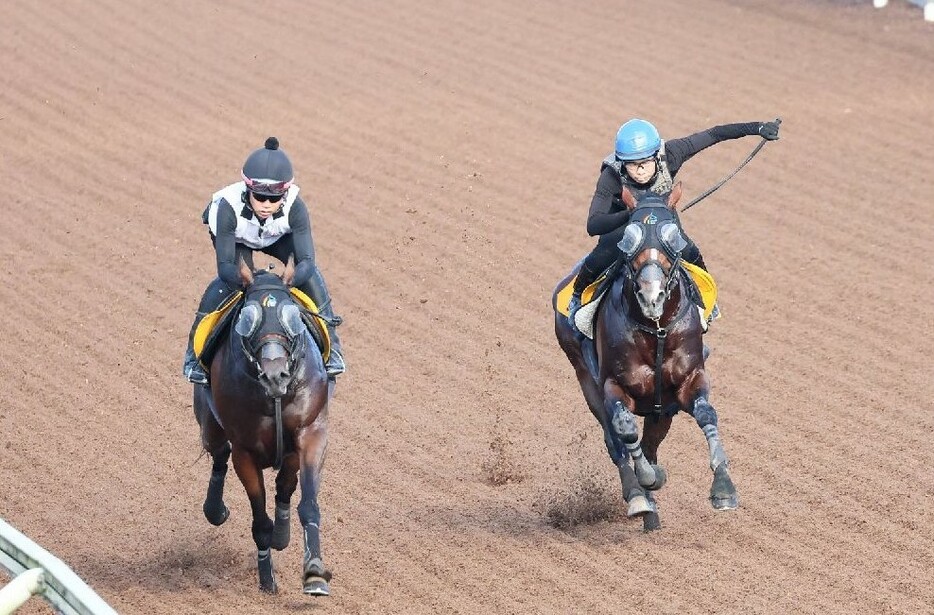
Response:
[{"label": "dark bay horse ridden by the jockey in white vest", "polygon": [[[221,525],[230,514],[223,496],[232,455],[253,511],[260,589],[276,593],[270,547],[282,550],[289,544],[289,502],[300,481],[303,590],[326,596],[331,573],[321,557],[318,489],[333,381],[289,292],[293,274],[291,260],[282,278],[251,272],[241,262],[245,303],[214,356],[210,385],[195,385],[201,442],[214,460],[204,515]],[[268,467],[278,470],[275,521],[266,513],[263,469]]]}]

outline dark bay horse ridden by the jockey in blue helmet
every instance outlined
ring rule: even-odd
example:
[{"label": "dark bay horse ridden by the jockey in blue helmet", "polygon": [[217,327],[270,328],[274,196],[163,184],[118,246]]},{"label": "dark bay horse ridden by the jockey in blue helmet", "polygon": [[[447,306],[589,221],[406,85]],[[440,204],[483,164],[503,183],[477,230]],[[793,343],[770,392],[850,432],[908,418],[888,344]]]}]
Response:
[{"label": "dark bay horse ridden by the jockey in blue helmet", "polygon": [[[680,197],[680,183],[666,197],[645,196],[638,203],[624,190],[623,202],[632,213],[619,242],[618,274],[608,282],[595,314],[593,341],[571,328],[562,313],[567,311],[567,299],[558,304],[559,291],[573,281],[576,269],[552,296],[558,343],[574,366],[590,411],[603,427],[628,514],[642,516],[646,530],[660,527],[653,491],[667,477],[658,465],[658,447],[679,411],[693,416],[707,439],[713,472],[711,504],[718,510],[739,504],[717,429],[717,412],[708,399],[701,314],[681,266],[686,242],[675,209]],[[636,416],[643,417],[641,442]]]}]

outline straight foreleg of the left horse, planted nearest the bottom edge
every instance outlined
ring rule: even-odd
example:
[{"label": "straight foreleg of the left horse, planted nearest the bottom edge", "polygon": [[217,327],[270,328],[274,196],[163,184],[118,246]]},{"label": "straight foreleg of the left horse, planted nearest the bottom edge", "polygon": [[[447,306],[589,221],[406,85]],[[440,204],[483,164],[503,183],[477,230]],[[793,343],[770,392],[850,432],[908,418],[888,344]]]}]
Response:
[{"label": "straight foreleg of the left horse, planted nearest the bottom edge", "polygon": [[318,508],[321,470],[328,446],[327,410],[322,410],[311,425],[302,428],[296,440],[301,462],[299,481],[302,486],[298,518],[305,538],[302,591],[311,596],[328,596],[331,593],[328,583],[331,573],[324,567],[321,557],[321,510]]}]

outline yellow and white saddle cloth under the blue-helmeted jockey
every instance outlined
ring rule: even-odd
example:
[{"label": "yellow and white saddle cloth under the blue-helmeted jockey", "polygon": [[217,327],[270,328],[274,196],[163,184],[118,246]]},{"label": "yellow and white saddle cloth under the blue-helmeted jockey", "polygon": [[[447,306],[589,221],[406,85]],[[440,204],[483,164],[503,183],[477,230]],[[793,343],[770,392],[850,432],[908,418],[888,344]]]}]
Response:
[{"label": "yellow and white saddle cloth under the blue-helmeted jockey", "polygon": [[[687,285],[689,299],[703,310],[704,319],[709,320],[714,305],[717,303],[717,283],[714,281],[713,276],[697,265],[681,261],[681,267],[683,267],[684,273],[687,274],[685,278],[689,282]],[[581,307],[574,315],[574,321],[577,324],[578,331],[589,339],[593,339],[594,336],[593,325],[594,318],[597,315],[597,308],[600,307],[600,301],[616,279],[617,270],[617,264],[610,266],[581,293]],[[577,276],[571,278],[567,285],[558,291],[557,309],[558,312],[565,316],[568,315],[568,304],[571,301],[571,294],[574,292],[575,279],[577,279]]]}]

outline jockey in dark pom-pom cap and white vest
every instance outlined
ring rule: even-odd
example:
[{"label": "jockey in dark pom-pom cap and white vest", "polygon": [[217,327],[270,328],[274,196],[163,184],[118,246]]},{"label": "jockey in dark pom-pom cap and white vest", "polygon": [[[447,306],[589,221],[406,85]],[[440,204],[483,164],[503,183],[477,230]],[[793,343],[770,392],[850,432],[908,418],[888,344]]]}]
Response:
[{"label": "jockey in dark pom-pom cap and white vest", "polygon": [[[280,261],[292,256],[295,262],[293,286],[312,298],[323,316],[339,322],[331,307],[324,278],[315,264],[308,208],[293,183],[292,163],[279,149],[279,140],[266,139],[265,147],[250,154],[243,163],[242,180],[214,193],[204,212],[217,255],[217,275],[208,285],[195,322],[188,336],[188,349],[182,371],[189,381],[206,384],[207,374],[195,357],[194,333],[201,319],[220,307],[240,289],[239,260],[253,267],[253,251],[259,250]],[[344,372],[340,338],[328,325],[331,354],[326,364],[330,377]]]}]

